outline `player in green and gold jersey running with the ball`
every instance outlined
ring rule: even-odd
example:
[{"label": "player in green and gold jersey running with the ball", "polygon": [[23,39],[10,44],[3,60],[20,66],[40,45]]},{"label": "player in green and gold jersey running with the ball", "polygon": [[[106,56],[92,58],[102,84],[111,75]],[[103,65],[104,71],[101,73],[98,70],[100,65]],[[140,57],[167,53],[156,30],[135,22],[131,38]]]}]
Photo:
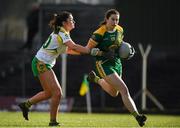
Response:
[{"label": "player in green and gold jersey running with the ball", "polygon": [[[86,47],[99,48],[111,54],[96,56],[96,73],[89,73],[88,80],[98,83],[107,93],[116,97],[120,92],[123,103],[130,113],[136,118],[140,126],[146,121],[146,116],[139,114],[136,105],[129,94],[123,81],[121,59],[118,47],[123,41],[123,28],[118,25],[120,14],[115,9],[106,12],[104,21],[93,33]],[[110,56],[109,56],[110,55]],[[112,56],[113,55],[113,56]]]}]

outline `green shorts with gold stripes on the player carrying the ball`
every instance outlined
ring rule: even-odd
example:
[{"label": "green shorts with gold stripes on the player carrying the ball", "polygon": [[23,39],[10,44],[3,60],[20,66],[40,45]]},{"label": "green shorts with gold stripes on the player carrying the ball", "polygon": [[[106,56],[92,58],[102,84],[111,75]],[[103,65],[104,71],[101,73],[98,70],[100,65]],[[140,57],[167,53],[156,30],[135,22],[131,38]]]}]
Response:
[{"label": "green shorts with gold stripes on the player carrying the ball", "polygon": [[96,72],[97,74],[103,78],[113,73],[117,73],[119,75],[122,74],[122,64],[120,59],[116,59],[113,61],[96,61]]}]

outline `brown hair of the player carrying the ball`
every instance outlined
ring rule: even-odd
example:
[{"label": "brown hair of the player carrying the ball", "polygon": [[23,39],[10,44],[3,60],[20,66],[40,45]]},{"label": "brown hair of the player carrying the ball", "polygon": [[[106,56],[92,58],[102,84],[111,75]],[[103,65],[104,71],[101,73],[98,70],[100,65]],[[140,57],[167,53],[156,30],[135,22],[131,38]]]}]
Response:
[{"label": "brown hair of the player carrying the ball", "polygon": [[106,19],[109,19],[109,17],[110,17],[112,14],[116,14],[116,15],[119,15],[119,16],[120,16],[120,13],[119,13],[116,9],[109,9],[109,10],[105,13],[104,20],[100,22],[100,26],[106,24]]}]

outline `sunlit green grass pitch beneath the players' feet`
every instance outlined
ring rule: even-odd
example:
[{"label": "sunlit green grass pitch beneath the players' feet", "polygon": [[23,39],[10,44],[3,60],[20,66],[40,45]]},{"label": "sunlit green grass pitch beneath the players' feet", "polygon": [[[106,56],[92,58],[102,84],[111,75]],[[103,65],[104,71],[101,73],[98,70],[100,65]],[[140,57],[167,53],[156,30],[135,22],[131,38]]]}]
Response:
[{"label": "sunlit green grass pitch beneath the players' feet", "polygon": [[[180,115],[147,115],[144,127],[180,128]],[[48,127],[48,112],[30,112],[29,121],[21,112],[0,112],[0,128],[45,128]],[[139,127],[130,114],[59,113],[61,128],[136,128]]]}]

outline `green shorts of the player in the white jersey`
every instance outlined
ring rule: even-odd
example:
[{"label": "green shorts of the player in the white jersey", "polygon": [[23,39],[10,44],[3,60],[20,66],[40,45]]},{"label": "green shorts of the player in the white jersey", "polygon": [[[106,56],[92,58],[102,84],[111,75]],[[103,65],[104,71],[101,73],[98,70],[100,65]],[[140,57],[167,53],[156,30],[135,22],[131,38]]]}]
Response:
[{"label": "green shorts of the player in the white jersey", "polygon": [[34,76],[38,76],[39,74],[44,73],[52,68],[51,65],[39,61],[36,57],[33,58],[31,66]]}]

